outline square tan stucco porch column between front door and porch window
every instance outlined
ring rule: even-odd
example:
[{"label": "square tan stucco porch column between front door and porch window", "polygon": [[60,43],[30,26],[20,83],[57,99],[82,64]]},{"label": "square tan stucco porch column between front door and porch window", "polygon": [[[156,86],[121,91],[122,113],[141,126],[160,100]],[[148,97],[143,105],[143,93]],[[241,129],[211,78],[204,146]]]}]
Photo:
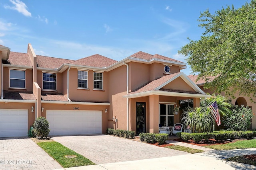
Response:
[{"label": "square tan stucco porch column between front door and porch window", "polygon": [[159,133],[159,96],[149,96],[149,133]]}]

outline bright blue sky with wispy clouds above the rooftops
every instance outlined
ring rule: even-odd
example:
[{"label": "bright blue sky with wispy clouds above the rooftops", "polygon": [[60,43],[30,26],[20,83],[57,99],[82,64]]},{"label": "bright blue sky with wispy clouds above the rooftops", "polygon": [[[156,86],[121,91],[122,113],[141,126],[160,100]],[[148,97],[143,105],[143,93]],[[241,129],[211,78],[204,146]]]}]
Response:
[{"label": "bright blue sky with wispy clouds above the rooftops", "polygon": [[[187,37],[200,39],[200,12],[250,0],[1,0],[0,44],[36,55],[120,61],[138,51],[185,62]],[[190,74],[190,66],[182,70]]]}]

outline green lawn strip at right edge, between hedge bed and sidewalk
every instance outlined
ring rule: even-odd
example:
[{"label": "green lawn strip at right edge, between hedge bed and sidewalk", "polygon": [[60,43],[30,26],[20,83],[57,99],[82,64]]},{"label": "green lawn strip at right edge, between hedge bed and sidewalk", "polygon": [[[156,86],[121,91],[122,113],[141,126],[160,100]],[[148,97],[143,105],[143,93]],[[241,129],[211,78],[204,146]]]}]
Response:
[{"label": "green lawn strip at right edge, between hedge bed and sidewalk", "polygon": [[206,148],[215,150],[229,150],[229,149],[246,149],[246,148],[256,148],[256,139],[252,140],[242,140],[235,143],[227,143],[221,145],[210,145],[204,146]]}]

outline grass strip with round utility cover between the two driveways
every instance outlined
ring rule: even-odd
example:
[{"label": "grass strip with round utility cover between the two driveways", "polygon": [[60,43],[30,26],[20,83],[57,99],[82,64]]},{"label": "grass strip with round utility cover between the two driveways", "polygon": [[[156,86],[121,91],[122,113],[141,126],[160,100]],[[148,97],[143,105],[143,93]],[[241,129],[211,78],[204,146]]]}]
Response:
[{"label": "grass strip with round utility cover between the two driveways", "polygon": [[[94,165],[92,161],[84,156],[64,147],[58,142],[40,142],[37,143],[45,152],[54,158],[63,168]],[[66,155],[76,155],[76,158],[66,158]]]}]

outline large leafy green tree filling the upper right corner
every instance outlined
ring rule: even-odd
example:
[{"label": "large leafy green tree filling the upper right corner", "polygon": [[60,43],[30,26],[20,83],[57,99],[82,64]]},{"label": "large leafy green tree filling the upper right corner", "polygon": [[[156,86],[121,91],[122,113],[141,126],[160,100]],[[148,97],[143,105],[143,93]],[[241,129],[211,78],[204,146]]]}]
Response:
[{"label": "large leafy green tree filling the upper right corner", "polygon": [[[241,8],[227,6],[210,14],[201,13],[199,27],[205,29],[200,40],[184,45],[179,53],[187,57],[198,80],[205,87],[228,95],[240,92],[256,101],[256,0]],[[209,76],[214,76],[213,80]]]}]

